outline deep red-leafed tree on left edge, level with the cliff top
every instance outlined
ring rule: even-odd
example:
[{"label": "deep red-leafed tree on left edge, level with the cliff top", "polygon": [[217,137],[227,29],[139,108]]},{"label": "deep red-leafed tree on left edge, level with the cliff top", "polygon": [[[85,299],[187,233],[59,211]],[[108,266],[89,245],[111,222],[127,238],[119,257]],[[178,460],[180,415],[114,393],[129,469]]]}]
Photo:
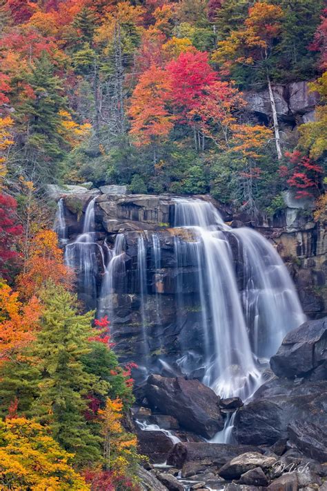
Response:
[{"label": "deep red-leafed tree on left edge, level with the cliff top", "polygon": [[12,266],[19,254],[16,244],[23,233],[23,228],[17,223],[17,202],[8,194],[0,194],[0,275],[8,277],[8,268]]}]

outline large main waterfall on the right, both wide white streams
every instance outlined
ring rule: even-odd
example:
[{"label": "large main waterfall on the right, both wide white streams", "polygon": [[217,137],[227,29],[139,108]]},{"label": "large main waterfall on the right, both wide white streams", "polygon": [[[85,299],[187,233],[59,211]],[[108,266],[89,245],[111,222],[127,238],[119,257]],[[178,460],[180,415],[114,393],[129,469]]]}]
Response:
[{"label": "large main waterfall on the right, both wide white streams", "polygon": [[[223,398],[246,400],[261,384],[254,354],[275,353],[286,332],[304,319],[286,266],[264,237],[249,228],[229,228],[206,201],[176,198],[175,228],[187,230],[185,239],[175,241],[177,270],[185,250],[198,270],[207,351],[204,383]],[[237,286],[231,236],[237,237],[244,257],[248,281],[243,295]],[[251,333],[255,324],[257,332]]]}]

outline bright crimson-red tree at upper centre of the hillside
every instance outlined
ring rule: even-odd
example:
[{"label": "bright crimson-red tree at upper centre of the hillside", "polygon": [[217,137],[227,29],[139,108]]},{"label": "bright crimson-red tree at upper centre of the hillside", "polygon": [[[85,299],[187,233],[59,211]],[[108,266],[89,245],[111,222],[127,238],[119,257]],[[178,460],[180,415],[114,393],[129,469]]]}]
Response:
[{"label": "bright crimson-red tree at upper centre of the hillside", "polygon": [[182,119],[200,104],[205,89],[217,80],[208,63],[208,53],[197,50],[181,53],[166,66],[172,84],[172,102]]}]

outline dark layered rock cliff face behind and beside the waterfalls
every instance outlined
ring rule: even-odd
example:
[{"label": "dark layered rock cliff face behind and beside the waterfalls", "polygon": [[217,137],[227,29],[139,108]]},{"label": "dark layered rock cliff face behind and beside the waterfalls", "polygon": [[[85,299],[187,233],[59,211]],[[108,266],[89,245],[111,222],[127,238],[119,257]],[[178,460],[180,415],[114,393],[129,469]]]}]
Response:
[{"label": "dark layered rock cliff face behind and beside the waterfalls", "polygon": [[[175,376],[179,373],[175,361],[182,353],[189,352],[190,356],[184,362],[188,373],[192,373],[193,367],[201,366],[199,360],[204,355],[204,344],[207,342],[210,345],[213,340],[204,339],[200,287],[195,265],[187,254],[179,263],[175,251],[179,238],[192,242],[192,237],[185,237],[188,232],[183,229],[173,228],[174,198],[112,194],[123,192],[124,189],[111,187],[71,191],[63,196],[66,241],[71,243],[81,234],[86,207],[95,198],[96,232],[92,241],[96,246],[101,246],[95,247],[93,251],[95,261],[91,269],[95,275],[95,288],[91,294],[84,291],[81,299],[88,308],[99,308],[96,297],[102,294],[100,311],[102,308],[107,313],[110,304],[112,337],[121,360],[129,361],[132,358],[142,365],[146,356],[150,369],[166,376]],[[313,318],[324,315],[327,303],[326,231],[323,224],[313,221],[308,204],[300,203],[306,210],[292,207],[295,204],[299,206],[299,203],[294,204],[288,196],[288,208],[274,219],[267,221],[258,217],[251,221],[248,216],[235,214],[228,207],[219,205],[210,196],[201,198],[214,204],[232,228],[248,225],[264,234],[284,259],[295,281],[305,313]],[[108,257],[112,257],[110,254],[115,254],[117,234],[122,233],[124,248],[115,266],[115,294],[108,295],[109,285],[106,297],[101,291],[103,277],[108,275],[105,265]],[[139,282],[140,237],[144,237],[144,258],[147,264],[143,288]],[[153,254],[155,240],[160,248],[159,270]],[[237,270],[237,286],[242,292],[244,265],[239,259],[239,245],[232,238],[229,242]],[[81,275],[81,270],[77,271],[77,277]],[[182,302],[179,295],[181,290]],[[255,333],[250,332],[249,335],[251,338]],[[166,364],[162,364],[162,358]],[[171,371],[170,361],[175,367],[174,371]],[[192,373],[192,376],[201,379],[204,373]]]}]

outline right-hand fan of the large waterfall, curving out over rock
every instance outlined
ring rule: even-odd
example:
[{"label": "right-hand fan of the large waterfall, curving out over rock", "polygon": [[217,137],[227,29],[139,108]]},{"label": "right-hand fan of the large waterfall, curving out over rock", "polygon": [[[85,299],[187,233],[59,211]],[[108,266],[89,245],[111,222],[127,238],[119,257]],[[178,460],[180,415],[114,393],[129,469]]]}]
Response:
[{"label": "right-hand fan of the large waterfall, curving out over rock", "polygon": [[270,358],[286,333],[302,324],[305,316],[293,281],[275,248],[250,228],[239,228],[232,234],[243,252],[243,302],[252,348],[258,356]]}]

